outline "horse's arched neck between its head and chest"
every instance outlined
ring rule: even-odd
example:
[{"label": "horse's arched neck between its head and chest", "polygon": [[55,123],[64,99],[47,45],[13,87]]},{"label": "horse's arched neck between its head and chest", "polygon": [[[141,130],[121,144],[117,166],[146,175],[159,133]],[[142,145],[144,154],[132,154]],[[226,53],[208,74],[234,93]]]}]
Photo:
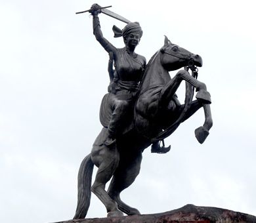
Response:
[{"label": "horse's arched neck between its head and chest", "polygon": [[148,64],[144,73],[144,78],[140,85],[140,92],[145,92],[148,89],[165,85],[171,80],[171,77],[165,68],[161,64],[160,53],[152,59],[152,62]]}]

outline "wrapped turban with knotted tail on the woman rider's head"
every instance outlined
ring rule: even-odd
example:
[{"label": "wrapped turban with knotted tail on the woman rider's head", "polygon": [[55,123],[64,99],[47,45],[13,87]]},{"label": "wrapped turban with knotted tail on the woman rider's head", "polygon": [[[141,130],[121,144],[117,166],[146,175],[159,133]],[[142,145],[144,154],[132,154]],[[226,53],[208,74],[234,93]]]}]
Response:
[{"label": "wrapped turban with knotted tail on the woman rider's head", "polygon": [[127,37],[130,33],[139,32],[140,37],[142,36],[142,29],[140,27],[139,22],[130,22],[123,28],[123,30],[120,30],[117,26],[113,26],[112,30],[114,31],[114,37],[121,37],[124,38]]}]

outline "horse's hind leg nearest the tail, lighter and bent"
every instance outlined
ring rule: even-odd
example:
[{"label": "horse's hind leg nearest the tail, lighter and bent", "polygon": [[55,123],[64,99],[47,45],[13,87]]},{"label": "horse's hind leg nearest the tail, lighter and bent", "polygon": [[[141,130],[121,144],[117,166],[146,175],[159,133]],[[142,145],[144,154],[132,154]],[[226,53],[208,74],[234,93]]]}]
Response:
[{"label": "horse's hind leg nearest the tail, lighter and bent", "polygon": [[[102,132],[102,134],[106,134],[105,129],[102,129]],[[93,163],[98,167],[91,192],[95,193],[105,205],[108,216],[123,216],[123,213],[117,207],[116,201],[105,190],[106,183],[112,178],[119,163],[119,152],[117,152],[116,146],[108,148],[102,144],[97,145],[96,139],[91,154]]]}]

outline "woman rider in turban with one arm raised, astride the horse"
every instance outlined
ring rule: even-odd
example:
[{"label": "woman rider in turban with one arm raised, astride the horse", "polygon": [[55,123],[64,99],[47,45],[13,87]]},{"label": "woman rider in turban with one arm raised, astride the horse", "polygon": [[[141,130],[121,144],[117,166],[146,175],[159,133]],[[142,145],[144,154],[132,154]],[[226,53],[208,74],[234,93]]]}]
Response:
[{"label": "woman rider in turban with one arm raised, astride the horse", "polygon": [[[102,35],[98,13],[100,6],[94,4],[90,10],[93,14],[93,33],[96,40],[108,53],[113,53],[116,73],[118,76],[116,94],[114,96],[114,112],[108,125],[108,138],[104,144],[110,146],[116,140],[117,126],[121,126],[127,110],[133,106],[139,82],[146,67],[146,58],[135,53],[142,30],[138,22],[131,22],[123,30],[114,26],[115,37],[123,36],[125,47],[117,49]],[[122,128],[121,128],[122,129]],[[121,132],[119,132],[121,133]]]}]

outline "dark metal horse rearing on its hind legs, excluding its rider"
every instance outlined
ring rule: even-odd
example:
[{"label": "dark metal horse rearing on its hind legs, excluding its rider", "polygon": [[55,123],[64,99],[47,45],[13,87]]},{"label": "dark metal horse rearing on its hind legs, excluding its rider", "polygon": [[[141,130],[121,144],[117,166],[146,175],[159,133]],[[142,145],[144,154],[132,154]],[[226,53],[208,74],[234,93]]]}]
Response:
[{"label": "dark metal horse rearing on its hind legs, excluding its rider", "polygon": [[[116,144],[112,147],[104,145],[107,129],[103,127],[91,153],[83,159],[78,173],[78,201],[74,219],[85,218],[91,192],[105,205],[108,216],[140,214],[137,209],[121,201],[120,193],[138,176],[142,152],[152,142],[172,134],[183,121],[202,107],[205,123],[195,133],[198,141],[203,143],[213,125],[209,107],[210,94],[205,84],[192,77],[186,69],[178,71],[172,79],[169,75],[169,71],[189,67],[190,64],[201,67],[202,58],[171,43],[165,37],[164,46],[152,56],[140,82],[133,125],[116,139]],[[175,92],[183,80],[186,81],[186,98],[185,104],[181,105]],[[193,88],[197,91],[194,101]],[[106,94],[104,100],[108,100],[111,94]],[[101,112],[103,110],[104,108]],[[98,171],[95,182],[91,185],[94,165],[98,167]],[[106,183],[111,178],[106,191]]]}]

